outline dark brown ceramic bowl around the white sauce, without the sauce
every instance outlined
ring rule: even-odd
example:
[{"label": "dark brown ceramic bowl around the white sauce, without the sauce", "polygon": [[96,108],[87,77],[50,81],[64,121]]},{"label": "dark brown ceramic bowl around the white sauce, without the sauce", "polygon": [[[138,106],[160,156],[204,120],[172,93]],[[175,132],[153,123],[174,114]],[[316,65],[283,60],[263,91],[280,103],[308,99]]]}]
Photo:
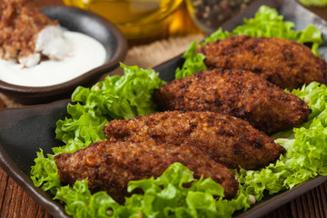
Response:
[{"label": "dark brown ceramic bowl around the white sauce, without the sauce", "polygon": [[0,91],[15,97],[24,104],[51,102],[70,96],[78,85],[93,84],[104,73],[112,71],[124,60],[127,42],[124,35],[109,21],[92,12],[75,7],[52,6],[42,11],[53,20],[57,20],[65,29],[94,37],[104,45],[105,63],[62,84],[42,87],[28,87],[8,84],[0,80]]}]

